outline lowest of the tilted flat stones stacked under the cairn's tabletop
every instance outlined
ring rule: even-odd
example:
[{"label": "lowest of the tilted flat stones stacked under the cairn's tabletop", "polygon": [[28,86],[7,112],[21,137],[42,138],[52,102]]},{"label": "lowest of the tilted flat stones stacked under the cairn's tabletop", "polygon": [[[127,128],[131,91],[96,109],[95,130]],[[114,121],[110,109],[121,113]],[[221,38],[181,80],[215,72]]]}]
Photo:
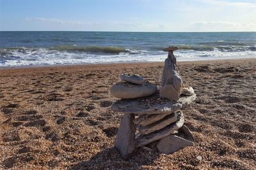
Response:
[{"label": "lowest of the tilted flat stones stacked under the cairn's tabletop", "polygon": [[163,129],[152,132],[151,134],[142,135],[135,139],[135,146],[136,148],[147,145],[148,143],[152,143],[153,141],[156,141],[158,139],[164,138],[170,134],[172,134],[174,131],[177,131],[182,127],[184,124],[184,117],[182,114],[182,111],[177,111],[177,122],[170,124]]}]

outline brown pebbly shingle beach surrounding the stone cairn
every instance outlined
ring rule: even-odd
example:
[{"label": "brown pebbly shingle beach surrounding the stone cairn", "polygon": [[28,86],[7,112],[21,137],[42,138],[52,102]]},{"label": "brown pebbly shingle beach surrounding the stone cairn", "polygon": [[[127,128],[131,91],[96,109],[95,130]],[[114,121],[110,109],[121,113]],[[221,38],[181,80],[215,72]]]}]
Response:
[{"label": "brown pebbly shingle beach surrounding the stone cairn", "polygon": [[195,146],[164,155],[152,143],[129,160],[113,147],[122,113],[109,87],[137,73],[159,88],[163,62],[1,69],[0,168],[256,169],[256,59],[178,66],[198,96],[182,110]]}]

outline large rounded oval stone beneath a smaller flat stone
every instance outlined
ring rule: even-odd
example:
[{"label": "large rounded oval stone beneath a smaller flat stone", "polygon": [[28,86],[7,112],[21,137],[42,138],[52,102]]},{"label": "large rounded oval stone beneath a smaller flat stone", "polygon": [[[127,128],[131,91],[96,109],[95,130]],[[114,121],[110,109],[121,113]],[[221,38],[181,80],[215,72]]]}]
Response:
[{"label": "large rounded oval stone beneath a smaller flat stone", "polygon": [[119,99],[136,99],[154,94],[157,87],[151,83],[143,83],[142,85],[133,85],[129,83],[117,83],[110,88],[112,96]]}]

